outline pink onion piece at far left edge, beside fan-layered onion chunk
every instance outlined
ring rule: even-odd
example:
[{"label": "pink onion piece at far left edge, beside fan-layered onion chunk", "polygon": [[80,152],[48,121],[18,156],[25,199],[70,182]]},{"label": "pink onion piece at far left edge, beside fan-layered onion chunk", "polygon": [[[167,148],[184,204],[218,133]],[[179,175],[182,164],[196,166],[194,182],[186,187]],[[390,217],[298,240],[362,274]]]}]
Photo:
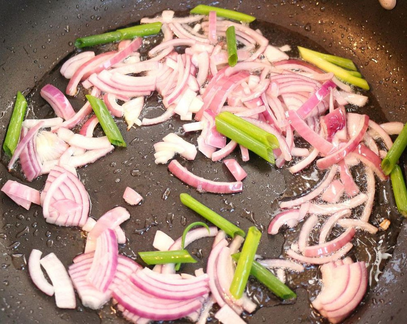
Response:
[{"label": "pink onion piece at far left edge, beside fan-layered onion chunk", "polygon": [[40,204],[39,191],[17,181],[7,180],[1,191],[27,210],[30,209],[31,203]]}]

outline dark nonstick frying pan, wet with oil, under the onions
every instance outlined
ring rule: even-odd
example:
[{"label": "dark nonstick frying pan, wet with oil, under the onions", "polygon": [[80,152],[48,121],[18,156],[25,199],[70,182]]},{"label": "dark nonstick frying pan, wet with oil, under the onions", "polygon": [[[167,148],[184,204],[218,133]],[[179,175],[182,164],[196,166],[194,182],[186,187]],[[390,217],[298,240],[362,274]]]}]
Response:
[{"label": "dark nonstick frying pan, wet with oil, under the onions", "polygon": [[[204,2],[219,5],[219,2]],[[36,89],[44,82],[63,88],[63,80],[55,67],[73,51],[72,42],[77,36],[116,29],[163,9],[188,10],[199,3],[173,0],[2,1],[0,139],[4,139],[17,90],[26,90],[24,93],[29,94],[31,116],[35,113],[42,117],[48,113]],[[382,9],[376,0],[231,0],[221,5],[252,13],[258,20],[275,24],[267,25],[267,29],[271,37],[275,36],[276,42],[281,43],[278,45],[285,41],[295,44],[298,39],[301,44],[352,58],[370,82],[373,97],[368,109],[373,118],[406,121],[407,2],[398,1],[392,11]],[[79,108],[82,101],[83,98],[78,98],[72,102],[74,107]],[[154,106],[153,99],[150,104]],[[119,124],[127,143],[130,143],[129,148],[115,150],[101,161],[79,170],[92,201],[91,215],[96,218],[115,205],[124,204],[121,194],[126,186],[136,188],[144,196],[142,205],[128,206],[131,219],[124,229],[129,242],[122,252],[129,256],[152,249],[155,229],[163,229],[176,238],[182,234],[185,223],[199,219],[180,205],[178,195],[181,192],[199,197],[214,210],[247,228],[253,222],[260,227],[267,226],[276,208],[275,199],[285,190],[285,172],[275,170],[253,156],[246,166],[249,177],[244,182],[242,194],[197,194],[171,177],[165,166],[157,167],[153,163],[152,143],[159,141],[166,132],[177,131],[180,125],[177,121],[170,121],[125,132],[125,126]],[[193,167],[195,172],[211,179],[230,180],[221,163],[208,164],[208,161],[198,159],[187,167]],[[0,166],[0,185],[12,178],[13,175],[3,165]],[[40,189],[44,180],[40,178],[31,185]],[[31,249],[37,248],[44,255],[56,253],[68,265],[83,250],[83,237],[77,229],[47,224],[39,207],[32,207],[26,212],[4,194],[1,199],[0,322],[125,323],[114,315],[109,306],[99,312],[81,306],[76,310],[57,309],[53,298],[38,291],[30,281],[24,257],[28,258]],[[392,204],[394,201],[389,198],[389,205]],[[394,214],[394,223],[397,223],[396,219],[400,216],[394,213],[394,208],[389,210]],[[386,210],[380,209],[379,212],[385,213]],[[389,236],[395,240],[397,232],[397,227],[393,226],[389,229]],[[263,235],[259,253],[278,257],[283,240],[280,234],[273,238]],[[202,254],[205,257],[208,250],[204,246],[205,242],[199,242],[191,249],[196,256]],[[346,323],[406,322],[407,277],[403,276],[407,270],[406,250],[407,230],[401,226],[393,256],[379,281]],[[306,290],[299,288],[297,293],[295,304],[279,305],[276,302],[273,307],[263,307],[249,318],[249,323],[271,319],[276,323],[318,322],[313,320]]]}]

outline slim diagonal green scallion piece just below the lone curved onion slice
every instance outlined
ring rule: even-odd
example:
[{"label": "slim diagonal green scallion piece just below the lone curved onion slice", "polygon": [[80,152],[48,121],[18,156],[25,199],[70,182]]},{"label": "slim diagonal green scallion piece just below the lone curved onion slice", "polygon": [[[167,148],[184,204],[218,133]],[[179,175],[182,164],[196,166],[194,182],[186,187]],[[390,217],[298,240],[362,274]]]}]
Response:
[{"label": "slim diagonal green scallion piece just below the lone curved onion slice", "polygon": [[226,234],[234,238],[236,235],[245,237],[246,234],[243,229],[240,229],[236,225],[230,223],[229,220],[223,218],[221,215],[215,213],[212,209],[209,209],[204,204],[201,204],[195,198],[191,197],[189,194],[180,194],[179,198],[181,202],[188,208],[197,212],[199,215],[209,220],[213,225],[219,227]]}]

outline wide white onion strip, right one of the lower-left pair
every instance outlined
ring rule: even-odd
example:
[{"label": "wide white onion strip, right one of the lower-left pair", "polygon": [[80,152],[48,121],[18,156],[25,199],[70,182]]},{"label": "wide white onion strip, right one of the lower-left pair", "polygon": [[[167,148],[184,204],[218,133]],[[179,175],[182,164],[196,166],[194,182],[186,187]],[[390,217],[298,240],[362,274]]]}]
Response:
[{"label": "wide white onion strip, right one of the lower-left pair", "polygon": [[50,253],[40,261],[55,289],[55,302],[59,308],[75,309],[76,298],[72,282],[62,262]]}]

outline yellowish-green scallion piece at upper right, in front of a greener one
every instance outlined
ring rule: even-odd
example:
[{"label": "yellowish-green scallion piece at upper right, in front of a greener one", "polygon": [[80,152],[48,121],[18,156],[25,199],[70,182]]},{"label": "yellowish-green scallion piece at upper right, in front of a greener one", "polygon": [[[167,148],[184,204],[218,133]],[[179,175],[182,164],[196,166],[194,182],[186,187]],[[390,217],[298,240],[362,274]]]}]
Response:
[{"label": "yellowish-green scallion piece at upper right, in front of a greener one", "polygon": [[370,89],[369,84],[365,79],[355,77],[351,75],[348,70],[345,70],[340,66],[330,63],[327,60],[324,60],[322,57],[319,57],[313,53],[304,51],[304,49],[307,50],[306,48],[298,46],[298,51],[300,51],[300,55],[304,61],[314,64],[315,66],[319,67],[321,70],[324,70],[325,72],[333,72],[336,77],[338,77],[344,82],[348,82],[350,84],[353,84],[354,86],[358,86],[359,88],[365,90]]}]

